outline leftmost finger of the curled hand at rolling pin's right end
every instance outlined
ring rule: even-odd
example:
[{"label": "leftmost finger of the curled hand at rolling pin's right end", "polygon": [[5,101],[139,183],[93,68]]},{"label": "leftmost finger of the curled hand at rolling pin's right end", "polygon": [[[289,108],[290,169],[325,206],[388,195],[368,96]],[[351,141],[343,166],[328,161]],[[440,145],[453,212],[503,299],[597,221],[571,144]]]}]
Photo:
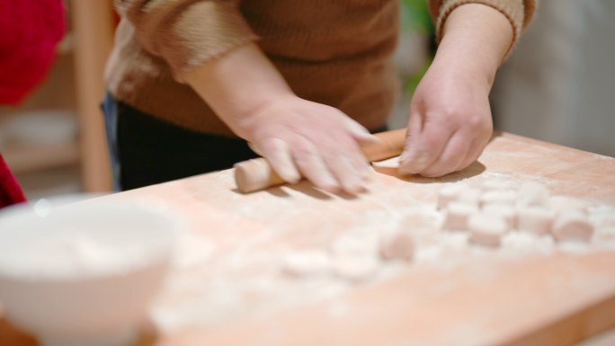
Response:
[{"label": "leftmost finger of the curled hand at rolling pin's right end", "polygon": [[408,148],[409,154],[402,157],[399,173],[423,172],[440,157],[452,134],[450,124],[441,121],[425,123],[423,131],[418,138],[414,138],[413,144],[410,145],[412,147]]}]

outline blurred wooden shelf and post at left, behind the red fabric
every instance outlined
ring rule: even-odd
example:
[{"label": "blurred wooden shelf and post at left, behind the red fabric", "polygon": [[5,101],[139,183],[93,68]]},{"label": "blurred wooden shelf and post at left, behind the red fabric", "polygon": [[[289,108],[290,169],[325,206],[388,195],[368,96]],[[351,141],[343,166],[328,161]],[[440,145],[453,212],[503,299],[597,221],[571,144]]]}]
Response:
[{"label": "blurred wooden shelf and post at left, behind the red fabric", "polygon": [[21,104],[0,105],[0,153],[31,200],[111,188],[99,107],[111,0],[64,3],[67,33],[46,80]]}]

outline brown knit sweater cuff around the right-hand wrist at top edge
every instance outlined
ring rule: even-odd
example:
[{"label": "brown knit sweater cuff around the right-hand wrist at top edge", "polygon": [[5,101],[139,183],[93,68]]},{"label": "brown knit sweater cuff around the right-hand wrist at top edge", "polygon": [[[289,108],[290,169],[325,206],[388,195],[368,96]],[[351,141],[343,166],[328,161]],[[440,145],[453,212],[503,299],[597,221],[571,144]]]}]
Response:
[{"label": "brown knit sweater cuff around the right-hand wrist at top edge", "polygon": [[435,22],[436,40],[441,40],[441,32],[449,14],[462,4],[485,4],[495,8],[506,16],[512,26],[511,48],[506,52],[508,57],[512,47],[521,37],[521,33],[530,24],[536,11],[537,0],[430,0],[429,8]]}]

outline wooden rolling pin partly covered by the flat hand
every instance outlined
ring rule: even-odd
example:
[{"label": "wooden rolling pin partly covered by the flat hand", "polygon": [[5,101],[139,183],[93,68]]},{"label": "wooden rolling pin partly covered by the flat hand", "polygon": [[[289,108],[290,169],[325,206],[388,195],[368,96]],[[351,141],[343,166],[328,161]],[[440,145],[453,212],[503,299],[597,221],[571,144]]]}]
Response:
[{"label": "wooden rolling pin partly covered by the flat hand", "polygon": [[[379,140],[361,146],[363,154],[370,162],[386,160],[400,155],[404,150],[406,129],[380,132],[374,136]],[[284,183],[263,157],[237,163],[234,167],[237,190],[243,193],[261,191]]]}]

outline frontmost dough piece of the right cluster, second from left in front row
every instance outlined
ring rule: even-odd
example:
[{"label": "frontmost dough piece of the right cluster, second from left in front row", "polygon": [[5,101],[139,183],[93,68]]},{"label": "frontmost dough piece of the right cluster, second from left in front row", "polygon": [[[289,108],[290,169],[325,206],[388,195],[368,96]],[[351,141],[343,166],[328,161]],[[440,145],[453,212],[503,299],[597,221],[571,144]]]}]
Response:
[{"label": "frontmost dough piece of the right cluster, second from left in front row", "polygon": [[504,217],[478,213],[468,219],[469,240],[474,244],[499,246],[508,226]]}]

